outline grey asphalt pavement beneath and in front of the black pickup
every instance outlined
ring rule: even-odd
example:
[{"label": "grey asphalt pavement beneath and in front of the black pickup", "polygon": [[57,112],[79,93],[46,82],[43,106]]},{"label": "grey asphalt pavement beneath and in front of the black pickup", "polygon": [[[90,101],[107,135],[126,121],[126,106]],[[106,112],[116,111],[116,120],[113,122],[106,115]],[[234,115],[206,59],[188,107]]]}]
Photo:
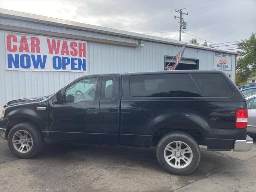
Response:
[{"label": "grey asphalt pavement beneath and in front of the black pickup", "polygon": [[189,175],[168,174],[156,148],[46,144],[32,159],[18,159],[0,139],[0,192],[256,191],[256,142],[249,152],[213,152]]}]

